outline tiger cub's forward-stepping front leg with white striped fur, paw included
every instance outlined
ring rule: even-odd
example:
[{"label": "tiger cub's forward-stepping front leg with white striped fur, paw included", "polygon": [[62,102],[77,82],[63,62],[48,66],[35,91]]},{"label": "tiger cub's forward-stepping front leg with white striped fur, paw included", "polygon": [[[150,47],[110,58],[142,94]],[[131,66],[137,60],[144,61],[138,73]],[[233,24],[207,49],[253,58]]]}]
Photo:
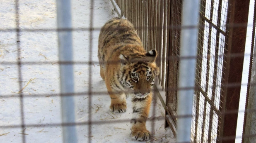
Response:
[{"label": "tiger cub's forward-stepping front leg with white striped fur, paw included", "polygon": [[150,132],[146,128],[146,121],[150,111],[152,93],[145,98],[132,98],[133,118],[131,123],[131,136],[136,141],[150,140]]}]

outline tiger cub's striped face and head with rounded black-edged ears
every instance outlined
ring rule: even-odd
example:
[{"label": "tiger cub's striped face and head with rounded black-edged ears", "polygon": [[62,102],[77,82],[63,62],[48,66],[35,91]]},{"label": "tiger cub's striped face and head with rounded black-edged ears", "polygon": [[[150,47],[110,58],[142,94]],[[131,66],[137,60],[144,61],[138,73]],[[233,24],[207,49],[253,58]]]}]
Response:
[{"label": "tiger cub's striped face and head with rounded black-edged ears", "polygon": [[121,70],[119,71],[119,81],[123,87],[131,90],[136,98],[144,98],[151,92],[154,79],[159,74],[156,66],[157,51],[141,54],[135,53],[120,56]]}]

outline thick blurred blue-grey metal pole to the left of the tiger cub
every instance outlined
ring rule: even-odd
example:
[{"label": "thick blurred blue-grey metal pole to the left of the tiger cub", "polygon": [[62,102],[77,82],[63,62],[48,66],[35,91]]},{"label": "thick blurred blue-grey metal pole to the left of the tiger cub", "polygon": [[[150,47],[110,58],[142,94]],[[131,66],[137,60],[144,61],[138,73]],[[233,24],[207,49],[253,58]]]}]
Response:
[{"label": "thick blurred blue-grey metal pole to the left of the tiger cub", "polygon": [[[71,22],[70,0],[57,0],[57,23],[58,28],[68,28],[70,30],[58,31],[59,61],[72,62],[72,22]],[[60,94],[74,93],[73,65],[60,64]],[[72,96],[61,96],[62,122],[75,122],[75,103]],[[75,126],[63,127],[64,143],[76,143],[77,134]]]}]

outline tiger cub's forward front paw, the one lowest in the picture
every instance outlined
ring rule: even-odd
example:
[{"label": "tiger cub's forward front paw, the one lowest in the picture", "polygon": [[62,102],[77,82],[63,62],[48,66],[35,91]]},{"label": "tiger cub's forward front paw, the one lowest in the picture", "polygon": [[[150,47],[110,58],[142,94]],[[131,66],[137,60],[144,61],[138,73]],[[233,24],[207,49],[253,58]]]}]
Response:
[{"label": "tiger cub's forward front paw, the one lowest in the picture", "polygon": [[150,132],[145,130],[135,130],[131,132],[132,138],[135,141],[148,141],[150,140]]}]

